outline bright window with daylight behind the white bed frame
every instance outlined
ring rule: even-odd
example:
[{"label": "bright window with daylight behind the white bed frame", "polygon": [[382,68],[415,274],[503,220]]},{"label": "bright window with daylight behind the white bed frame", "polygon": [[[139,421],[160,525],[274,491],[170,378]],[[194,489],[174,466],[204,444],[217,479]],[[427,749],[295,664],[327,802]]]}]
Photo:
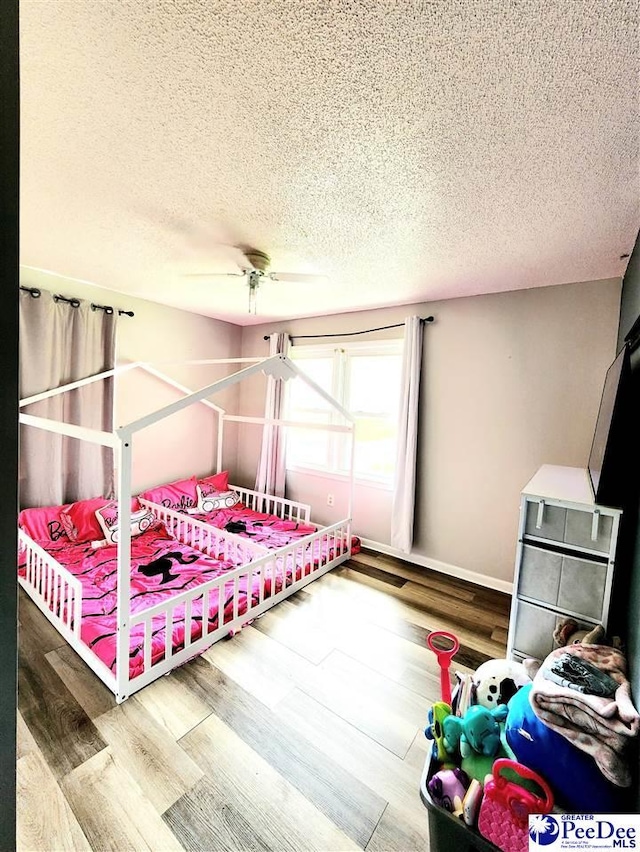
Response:
[{"label": "bright window with daylight behind the white bed frame", "polygon": [[[402,341],[299,347],[292,360],[355,417],[354,473],[390,484],[396,456]],[[342,418],[304,382],[290,382],[288,418],[342,423]],[[315,429],[290,429],[287,468],[347,475],[350,437]]]}]

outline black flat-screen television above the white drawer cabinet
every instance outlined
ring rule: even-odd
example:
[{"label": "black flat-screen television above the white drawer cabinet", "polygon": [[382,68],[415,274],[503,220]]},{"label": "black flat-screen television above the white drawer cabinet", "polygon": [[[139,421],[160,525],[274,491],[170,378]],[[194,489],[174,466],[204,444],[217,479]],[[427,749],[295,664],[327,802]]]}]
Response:
[{"label": "black flat-screen television above the white drawer cabinet", "polygon": [[625,346],[607,370],[598,419],[589,453],[589,477],[596,503],[624,503],[625,455],[630,434],[629,390],[631,361]]}]

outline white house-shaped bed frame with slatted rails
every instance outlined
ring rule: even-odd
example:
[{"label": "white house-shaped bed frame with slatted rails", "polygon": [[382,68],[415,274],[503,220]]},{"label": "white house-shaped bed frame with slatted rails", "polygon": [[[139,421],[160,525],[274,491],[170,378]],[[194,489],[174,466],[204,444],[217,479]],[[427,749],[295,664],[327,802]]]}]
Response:
[{"label": "white house-shaped bed frame with slatted rails", "polygon": [[[152,366],[152,362],[132,362],[129,364],[118,366],[113,370],[107,370],[94,376],[90,376],[85,379],[62,385],[53,390],[34,394],[33,396],[27,397],[20,401],[20,408],[22,409],[40,400],[66,393],[67,391],[74,390],[92,382],[102,381],[111,376],[116,376],[122,374],[125,371],[133,369],[144,370],[145,372],[171,385],[184,395],[183,398],[177,400],[176,402],[164,405],[156,411],[145,415],[144,417],[140,417],[137,420],[126,424],[125,426],[120,426],[119,428],[114,429],[113,432],[89,429],[82,426],[76,426],[62,421],[51,420],[22,412],[19,415],[19,421],[23,425],[31,426],[38,429],[44,429],[49,432],[65,435],[67,437],[75,438],[81,441],[87,441],[93,444],[99,444],[102,446],[110,447],[114,451],[114,464],[116,466],[117,472],[116,500],[118,504],[118,517],[120,528],[119,540],[117,542],[118,582],[115,675],[80,640],[82,590],[79,581],[72,575],[69,575],[64,569],[61,570],[65,574],[67,574],[66,578],[54,576],[56,571],[58,573],[60,572],[59,563],[56,563],[56,561],[52,559],[52,557],[47,554],[47,552],[43,548],[35,544],[22,530],[19,531],[19,537],[21,545],[28,549],[28,552],[31,554],[29,558],[33,562],[33,565],[31,567],[31,574],[33,575],[32,581],[30,583],[21,582],[23,588],[25,588],[25,590],[34,600],[36,605],[54,624],[54,626],[62,633],[62,635],[67,639],[67,641],[75,648],[75,650],[80,654],[80,656],[90,666],[90,668],[114,692],[116,701],[118,703],[124,701],[133,692],[136,692],[138,689],[141,689],[148,683],[151,683],[160,675],[166,674],[168,671],[171,671],[176,666],[186,662],[192,656],[202,653],[202,651],[206,650],[207,647],[212,645],[223,635],[227,635],[230,630],[242,626],[243,623],[257,617],[262,612],[269,609],[271,606],[274,606],[284,597],[288,597],[290,594],[297,591],[299,588],[302,588],[304,585],[311,582],[312,580],[316,579],[321,574],[326,573],[326,571],[330,570],[336,564],[345,561],[349,558],[351,553],[351,521],[354,491],[353,416],[342,405],[340,405],[340,403],[334,397],[324,391],[316,382],[314,382],[309,376],[307,376],[302,370],[300,370],[296,364],[294,364],[289,358],[287,358],[287,356],[282,354],[273,355],[268,358],[221,358],[189,360],[181,361],[180,363],[182,365],[193,366],[215,364],[239,365],[248,363],[249,366],[243,367],[223,379],[219,379],[218,381],[208,384],[200,388],[199,390],[193,391],[187,388],[186,386],[180,384],[179,382],[175,381],[174,379],[170,378],[169,376],[165,375],[160,370],[156,369],[154,366]],[[334,411],[336,411],[340,415],[343,422],[341,424],[307,423],[286,419],[233,415],[228,414],[223,408],[216,405],[215,403],[212,403],[209,400],[209,397],[214,396],[220,391],[232,387],[233,385],[238,384],[239,382],[243,382],[246,379],[249,379],[252,376],[255,376],[260,373],[265,374],[267,377],[272,377],[273,379],[282,379],[285,381],[290,379],[299,379],[301,381],[304,381],[312,390],[319,394],[331,406]],[[292,584],[285,583],[286,588],[283,591],[277,594],[273,594],[268,598],[264,597],[263,599],[264,572],[266,572],[267,570],[266,566],[270,564],[272,565],[272,570],[275,570],[273,566],[275,565],[274,560],[276,557],[273,554],[280,554],[280,558],[285,559],[287,558],[287,556],[289,556],[290,558],[290,555],[288,553],[290,551],[291,554],[294,554],[295,558],[295,548],[300,547],[303,543],[308,546],[309,542],[311,542],[312,539],[315,539],[316,536],[308,536],[307,539],[301,539],[300,542],[296,545],[289,545],[285,548],[280,548],[280,550],[278,551],[272,551],[270,553],[264,547],[249,542],[246,539],[238,539],[237,536],[229,534],[223,530],[217,530],[214,532],[211,527],[208,527],[208,525],[196,521],[188,515],[183,515],[172,510],[165,509],[164,507],[154,506],[154,504],[147,504],[152,506],[154,510],[156,510],[158,516],[160,517],[160,520],[164,521],[170,532],[177,538],[179,538],[179,540],[183,541],[183,543],[191,544],[197,549],[201,549],[204,553],[207,553],[207,548],[209,549],[209,552],[212,552],[214,548],[223,548],[225,553],[233,552],[236,556],[239,555],[244,560],[248,559],[248,563],[245,562],[242,566],[237,567],[229,571],[228,574],[224,575],[225,583],[233,582],[234,589],[236,591],[238,589],[238,582],[240,577],[249,576],[252,572],[255,572],[257,570],[263,570],[263,590],[260,594],[261,599],[258,605],[252,605],[251,607],[249,607],[249,604],[247,602],[247,610],[242,614],[239,614],[236,602],[234,604],[234,620],[231,622],[225,621],[225,623],[222,625],[220,623],[220,610],[218,610],[218,627],[215,630],[211,632],[207,631],[205,633],[203,627],[203,635],[196,641],[188,642],[186,637],[187,631],[185,629],[185,647],[177,653],[170,651],[170,643],[167,640],[165,659],[159,663],[154,663],[153,665],[151,665],[151,646],[149,636],[151,632],[152,619],[158,616],[159,614],[161,615],[162,612],[166,610],[166,633],[169,634],[169,610],[175,609],[176,606],[184,602],[186,611],[187,613],[189,613],[186,618],[190,619],[190,602],[202,596],[204,606],[204,601],[208,600],[208,598],[204,597],[204,595],[207,594],[207,587],[215,584],[217,581],[208,581],[202,586],[198,586],[189,590],[189,592],[183,592],[173,598],[172,602],[170,602],[169,604],[158,604],[156,606],[150,607],[147,610],[143,610],[142,612],[132,614],[130,609],[130,564],[132,497],[131,487],[134,436],[137,435],[138,432],[147,428],[148,426],[151,426],[154,423],[164,420],[167,417],[170,417],[172,414],[182,411],[183,409],[188,408],[189,406],[194,405],[195,403],[203,403],[204,405],[215,411],[218,415],[218,472],[222,468],[222,441],[224,436],[225,422],[234,421],[240,423],[254,423],[258,425],[261,424],[263,426],[271,425],[283,426],[287,428],[318,429],[322,431],[339,432],[344,433],[346,435],[350,435],[351,446],[347,517],[341,519],[340,521],[337,521],[331,526],[320,528],[319,533],[316,534],[319,535],[320,533],[322,533],[325,536],[333,536],[334,545],[336,545],[338,540],[344,541],[346,536],[347,546],[341,548],[341,554],[337,558],[329,559],[327,564],[323,564],[321,566],[320,570],[313,571],[309,575],[306,575],[305,573],[304,576],[297,580],[294,576],[294,582]],[[240,488],[239,490],[240,492],[244,492],[245,494],[256,495],[256,492],[250,492],[247,489]],[[268,495],[256,496],[268,498]],[[301,506],[301,504],[294,503],[293,501],[284,500],[283,498],[268,499],[275,500],[276,503],[280,504],[281,506],[284,506],[284,504],[289,504],[289,506],[297,507]],[[340,537],[340,539],[338,539],[338,537]],[[311,546],[313,546],[313,542],[311,542]],[[334,551],[334,554],[337,552],[337,550],[338,548],[336,545],[336,550]],[[54,572],[54,575],[51,574],[52,571]],[[64,585],[65,583],[67,584],[67,586]],[[61,600],[63,595],[63,589],[65,588],[67,590],[64,593],[67,594],[68,597],[65,599],[66,603],[63,607],[61,604]],[[58,601],[58,607],[61,612],[61,615],[59,617],[55,616],[52,612],[52,604],[54,604],[55,608],[56,600]],[[62,614],[63,610],[64,614]],[[129,651],[132,621],[136,624],[144,622],[146,637],[148,640],[145,641],[145,670],[142,674],[136,675],[133,678],[130,677],[129,671]],[[171,626],[173,627],[173,621],[171,622]]]}]

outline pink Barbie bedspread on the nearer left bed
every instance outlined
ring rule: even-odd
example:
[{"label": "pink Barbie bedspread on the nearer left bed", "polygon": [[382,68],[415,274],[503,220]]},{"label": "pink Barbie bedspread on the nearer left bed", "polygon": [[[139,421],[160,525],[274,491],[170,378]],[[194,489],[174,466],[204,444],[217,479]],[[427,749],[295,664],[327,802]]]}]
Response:
[{"label": "pink Barbie bedspread on the nearer left bed", "polygon": [[[109,546],[97,550],[90,542],[71,544],[68,539],[57,542],[39,542],[58,562],[77,577],[82,584],[82,640],[112,670],[116,663],[116,606],[117,606],[117,569],[116,547]],[[46,545],[46,546],[45,546]],[[157,603],[193,589],[234,568],[231,562],[213,559],[198,550],[181,544],[165,530],[156,526],[131,540],[131,610],[141,612]],[[24,567],[19,568],[22,576]],[[285,582],[292,581],[293,572],[288,569]],[[296,571],[296,579],[301,575]],[[239,581],[237,614],[247,611],[247,596],[251,594],[253,603],[257,603],[259,581],[254,578],[251,589],[247,589],[247,579]],[[273,588],[275,586],[275,588]],[[282,589],[282,566],[276,568],[275,584],[271,582],[269,572],[265,579],[264,597]],[[234,616],[233,582],[224,586],[224,600],[221,602],[222,624]],[[202,599],[192,605],[191,638],[202,635]],[[176,607],[173,618],[172,645],[179,650],[184,645],[185,612],[184,605]],[[207,613],[209,632],[218,627],[218,590],[209,594]],[[165,654],[165,617],[156,616],[152,631],[152,664],[163,659]],[[136,625],[131,631],[130,676],[144,670],[143,651],[144,626]]]}]

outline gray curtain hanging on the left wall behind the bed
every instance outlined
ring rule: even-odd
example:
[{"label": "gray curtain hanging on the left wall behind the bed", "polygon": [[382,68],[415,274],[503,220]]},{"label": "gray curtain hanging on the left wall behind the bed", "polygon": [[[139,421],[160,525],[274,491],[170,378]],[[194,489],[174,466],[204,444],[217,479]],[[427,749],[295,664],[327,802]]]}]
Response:
[{"label": "gray curtain hanging on the left wall behind the bed", "polygon": [[[20,398],[113,369],[117,314],[38,299],[20,291]],[[35,402],[27,414],[91,429],[113,430],[113,377]],[[53,506],[112,497],[113,451],[108,447],[20,427],[20,507]]]}]

